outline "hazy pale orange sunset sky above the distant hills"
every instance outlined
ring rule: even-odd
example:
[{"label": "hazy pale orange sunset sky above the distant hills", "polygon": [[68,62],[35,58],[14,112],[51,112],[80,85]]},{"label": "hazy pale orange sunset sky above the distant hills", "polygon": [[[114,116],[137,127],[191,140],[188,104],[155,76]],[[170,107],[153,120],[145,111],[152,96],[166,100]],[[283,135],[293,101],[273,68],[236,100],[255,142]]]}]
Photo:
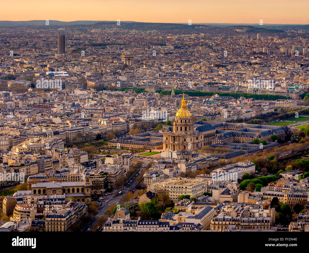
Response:
[{"label": "hazy pale orange sunset sky above the distant hills", "polygon": [[309,24],[309,0],[13,0],[1,20]]}]

